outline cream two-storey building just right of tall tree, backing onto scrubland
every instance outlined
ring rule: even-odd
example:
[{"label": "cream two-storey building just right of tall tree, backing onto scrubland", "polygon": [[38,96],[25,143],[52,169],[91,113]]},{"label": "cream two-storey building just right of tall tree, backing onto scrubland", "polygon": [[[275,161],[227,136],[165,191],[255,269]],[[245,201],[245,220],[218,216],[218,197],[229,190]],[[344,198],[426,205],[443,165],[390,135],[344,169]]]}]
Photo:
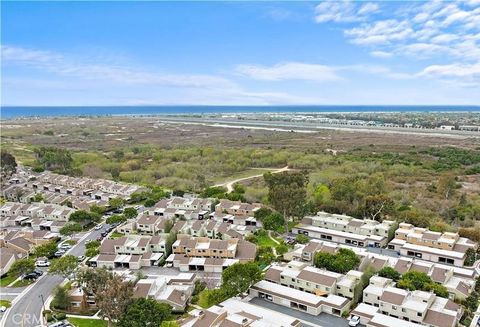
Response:
[{"label": "cream two-storey building just right of tall tree, backing onto scrubland", "polygon": [[382,237],[388,237],[389,230],[395,226],[395,222],[392,220],[384,220],[380,223],[376,220],[356,219],[347,215],[323,211],[317,212],[315,216],[306,216],[303,223],[347,233]]}]

